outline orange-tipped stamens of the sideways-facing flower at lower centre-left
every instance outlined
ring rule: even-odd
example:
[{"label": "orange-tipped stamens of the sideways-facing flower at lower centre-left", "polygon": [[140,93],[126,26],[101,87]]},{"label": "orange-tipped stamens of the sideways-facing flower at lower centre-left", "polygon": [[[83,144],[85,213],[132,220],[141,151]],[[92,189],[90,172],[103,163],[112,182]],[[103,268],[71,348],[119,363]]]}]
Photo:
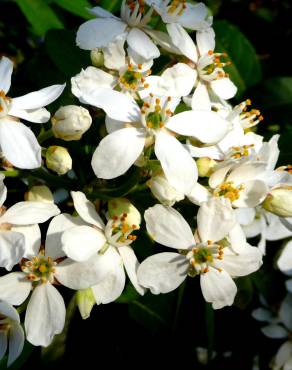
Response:
[{"label": "orange-tipped stamens of the sideways-facing flower at lower centre-left", "polygon": [[123,213],[122,216],[114,216],[108,221],[105,228],[105,236],[109,244],[115,247],[121,247],[123,245],[130,245],[137,239],[137,236],[132,235],[132,232],[137,230],[138,227],[136,225],[129,225],[127,216],[127,213]]}]

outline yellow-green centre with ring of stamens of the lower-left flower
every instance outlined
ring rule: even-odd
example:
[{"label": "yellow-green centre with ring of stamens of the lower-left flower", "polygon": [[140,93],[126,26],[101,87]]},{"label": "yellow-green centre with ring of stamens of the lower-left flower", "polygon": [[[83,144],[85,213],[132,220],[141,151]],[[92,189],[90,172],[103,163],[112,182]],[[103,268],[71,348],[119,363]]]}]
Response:
[{"label": "yellow-green centre with ring of stamens of the lower-left flower", "polygon": [[54,273],[56,262],[52,257],[45,257],[42,253],[33,257],[29,261],[25,261],[21,269],[26,274],[26,279],[36,283],[52,283],[54,281]]}]

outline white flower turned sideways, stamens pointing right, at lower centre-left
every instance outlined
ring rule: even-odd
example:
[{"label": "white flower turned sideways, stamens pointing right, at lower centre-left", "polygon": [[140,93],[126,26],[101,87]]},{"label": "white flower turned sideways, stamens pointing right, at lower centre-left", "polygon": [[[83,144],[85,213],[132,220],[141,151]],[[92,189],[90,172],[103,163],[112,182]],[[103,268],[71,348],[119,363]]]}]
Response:
[{"label": "white flower turned sideways, stamens pointing right, at lower centre-left", "polygon": [[[94,278],[99,275],[83,288],[92,288],[97,304],[109,303],[117,299],[124,289],[125,267],[135,289],[143,294],[144,289],[137,282],[139,263],[131,247],[136,239],[132,232],[139,226],[129,225],[126,213],[111,218],[105,225],[82,192],[72,191],[71,194],[83,223],[82,226],[68,228],[62,236],[62,249],[69,258],[63,265],[61,263],[65,273],[63,276],[58,273],[58,280],[72,289],[81,289],[78,274],[83,270]],[[75,281],[66,280],[66,269],[71,274],[75,271]]]}]

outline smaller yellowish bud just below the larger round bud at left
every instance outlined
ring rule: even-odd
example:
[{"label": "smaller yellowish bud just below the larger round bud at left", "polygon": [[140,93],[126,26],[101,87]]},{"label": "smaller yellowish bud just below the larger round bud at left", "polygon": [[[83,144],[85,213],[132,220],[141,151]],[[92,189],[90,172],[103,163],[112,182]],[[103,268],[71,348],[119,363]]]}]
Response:
[{"label": "smaller yellowish bud just below the larger round bud at left", "polygon": [[46,165],[58,175],[65,175],[72,168],[72,158],[68,149],[62,146],[50,146],[46,152]]}]

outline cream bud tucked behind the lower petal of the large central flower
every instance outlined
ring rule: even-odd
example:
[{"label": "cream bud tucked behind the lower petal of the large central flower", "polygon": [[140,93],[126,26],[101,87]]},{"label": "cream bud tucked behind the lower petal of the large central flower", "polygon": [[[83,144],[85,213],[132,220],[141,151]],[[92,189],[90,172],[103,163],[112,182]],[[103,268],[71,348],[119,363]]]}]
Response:
[{"label": "cream bud tucked behind the lower petal of the large central flower", "polygon": [[169,184],[163,173],[152,176],[147,185],[155,198],[166,206],[172,206],[175,202],[179,202],[185,197],[182,192]]}]

